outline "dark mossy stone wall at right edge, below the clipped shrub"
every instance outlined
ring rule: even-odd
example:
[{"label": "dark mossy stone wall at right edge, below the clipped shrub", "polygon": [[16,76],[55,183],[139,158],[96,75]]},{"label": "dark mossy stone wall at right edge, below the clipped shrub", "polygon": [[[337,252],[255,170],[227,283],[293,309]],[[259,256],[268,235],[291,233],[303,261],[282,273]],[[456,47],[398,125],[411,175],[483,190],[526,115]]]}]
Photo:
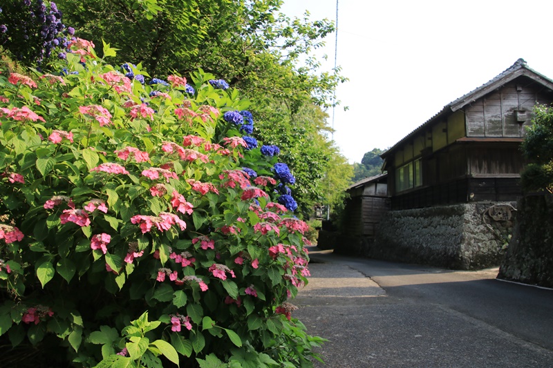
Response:
[{"label": "dark mossy stone wall at right edge, below the clipped shrub", "polygon": [[553,195],[518,201],[513,237],[498,278],[553,287]]}]

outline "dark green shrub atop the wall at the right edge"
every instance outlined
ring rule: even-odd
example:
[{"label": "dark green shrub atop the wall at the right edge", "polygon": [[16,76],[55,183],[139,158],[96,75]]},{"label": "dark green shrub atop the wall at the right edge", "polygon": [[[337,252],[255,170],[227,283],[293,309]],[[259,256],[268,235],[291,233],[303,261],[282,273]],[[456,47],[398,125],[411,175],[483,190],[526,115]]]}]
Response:
[{"label": "dark green shrub atop the wall at the right edge", "polygon": [[521,173],[521,184],[525,191],[553,193],[553,111],[536,106],[532,122],[521,144],[528,162]]}]

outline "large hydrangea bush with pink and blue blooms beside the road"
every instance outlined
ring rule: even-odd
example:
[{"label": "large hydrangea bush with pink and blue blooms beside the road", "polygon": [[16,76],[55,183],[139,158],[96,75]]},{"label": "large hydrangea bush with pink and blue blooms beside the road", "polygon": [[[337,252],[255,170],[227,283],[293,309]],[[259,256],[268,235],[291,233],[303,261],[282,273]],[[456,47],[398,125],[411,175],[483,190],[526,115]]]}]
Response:
[{"label": "large hydrangea bush with pink and blue blooms beside the road", "polygon": [[144,83],[69,50],[58,75],[0,73],[3,361],[312,365],[289,302],[307,226],[248,102],[202,70]]}]

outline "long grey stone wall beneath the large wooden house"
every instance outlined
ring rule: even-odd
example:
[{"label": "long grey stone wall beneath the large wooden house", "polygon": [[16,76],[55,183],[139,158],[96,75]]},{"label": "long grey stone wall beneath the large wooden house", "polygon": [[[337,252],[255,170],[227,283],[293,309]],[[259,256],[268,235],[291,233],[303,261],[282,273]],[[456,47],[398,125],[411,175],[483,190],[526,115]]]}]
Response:
[{"label": "long grey stone wall beneath the large wooden house", "polygon": [[335,252],[451,269],[498,266],[514,224],[514,203],[472,203],[390,211],[376,238],[339,239]]}]

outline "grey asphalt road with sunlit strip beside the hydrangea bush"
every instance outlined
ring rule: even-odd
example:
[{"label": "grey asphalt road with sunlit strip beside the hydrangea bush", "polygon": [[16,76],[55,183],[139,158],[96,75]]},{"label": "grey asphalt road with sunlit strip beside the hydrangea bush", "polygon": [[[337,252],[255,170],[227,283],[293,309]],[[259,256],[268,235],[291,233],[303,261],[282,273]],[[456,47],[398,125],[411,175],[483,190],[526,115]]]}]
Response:
[{"label": "grey asphalt road with sunlit strip beside the hydrangea bush", "polygon": [[316,367],[553,367],[553,291],[450,271],[310,251],[295,300]]}]

